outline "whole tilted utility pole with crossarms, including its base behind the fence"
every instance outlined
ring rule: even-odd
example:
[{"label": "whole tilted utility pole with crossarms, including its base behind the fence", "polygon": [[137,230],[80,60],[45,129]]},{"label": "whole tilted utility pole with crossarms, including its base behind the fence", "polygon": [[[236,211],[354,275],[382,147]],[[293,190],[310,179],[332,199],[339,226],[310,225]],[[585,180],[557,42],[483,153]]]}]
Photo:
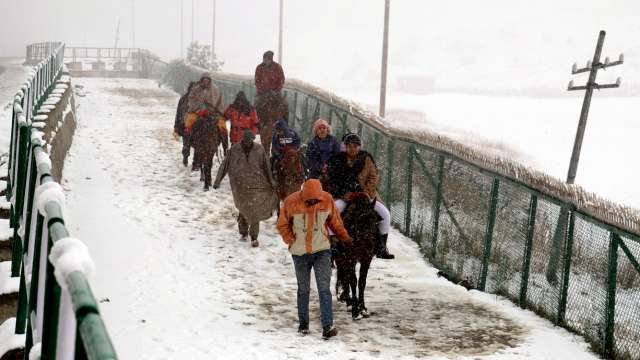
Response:
[{"label": "whole tilted utility pole with crossarms, including its base behind the fence", "polygon": [[[610,62],[609,58],[605,58],[604,63],[600,62],[600,54],[602,53],[602,45],[604,44],[605,31],[601,30],[598,34],[598,42],[596,43],[596,51],[593,54],[593,60],[587,61],[587,66],[578,69],[578,64],[573,64],[571,68],[571,74],[580,74],[589,72],[589,80],[584,86],[574,86],[573,80],[569,82],[567,90],[586,90],[584,94],[584,100],[582,102],[582,110],[580,111],[580,120],[578,121],[578,130],[576,131],[576,138],[573,142],[573,151],[571,153],[571,161],[569,163],[569,171],[567,173],[567,184],[573,184],[576,180],[576,173],[578,171],[578,161],[580,160],[580,150],[582,149],[582,139],[584,138],[584,132],[587,127],[587,116],[589,115],[589,107],[591,106],[591,97],[593,95],[593,89],[610,89],[620,87],[621,79],[618,78],[615,84],[603,84],[596,83],[596,76],[598,70],[606,69],[611,66],[620,65],[624,62],[624,55],[620,54],[618,61]],[[567,225],[569,224],[569,209],[565,206],[560,208],[560,214],[556,223],[556,229],[553,233],[553,241],[551,243],[551,254],[549,256],[549,263],[547,265],[546,278],[547,281],[552,284],[558,284],[558,267],[560,265],[560,256],[563,253],[562,246],[564,245],[565,234],[568,231]],[[568,249],[566,251],[571,251]]]}]

